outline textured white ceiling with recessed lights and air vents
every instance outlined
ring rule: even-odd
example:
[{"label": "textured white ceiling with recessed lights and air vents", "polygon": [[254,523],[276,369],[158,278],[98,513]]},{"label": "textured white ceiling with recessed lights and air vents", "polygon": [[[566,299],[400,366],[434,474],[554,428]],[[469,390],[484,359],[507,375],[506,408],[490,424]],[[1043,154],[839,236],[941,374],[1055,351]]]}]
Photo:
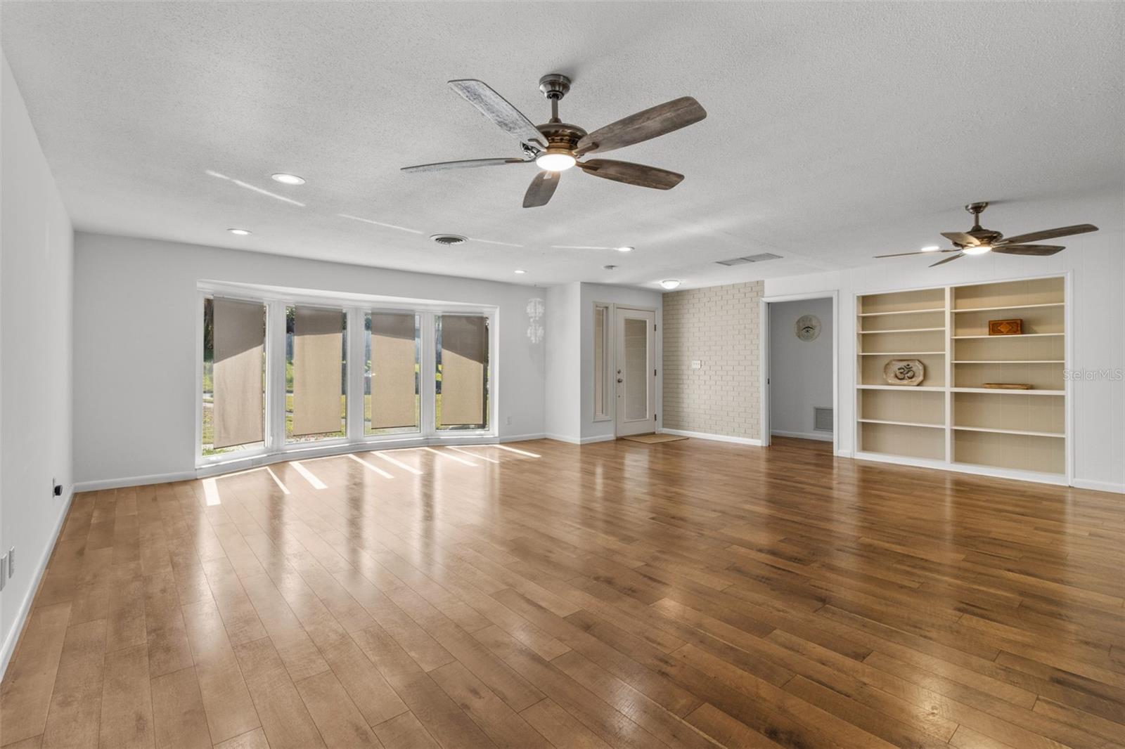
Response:
[{"label": "textured white ceiling with recessed lights and air vents", "polygon": [[[871,263],[963,231],[1120,211],[1122,3],[3,2],[2,44],[76,227],[530,283],[687,286]],[[594,129],[691,94],[700,124],[610,154],[664,192],[532,166],[446,81]],[[286,187],[286,171],[308,180]],[[217,177],[219,174],[222,177]],[[303,205],[278,200],[240,182]],[[1113,205],[1100,200],[1101,205]],[[1119,205],[1119,204],[1118,204]],[[351,216],[403,227],[346,218]],[[249,237],[225,229],[246,227]],[[432,233],[494,243],[446,249]],[[1080,240],[1074,240],[1077,245]],[[551,245],[631,244],[612,251]],[[518,246],[508,246],[518,245]],[[784,260],[713,263],[774,252]],[[604,271],[602,265],[620,265]],[[514,276],[516,268],[528,270]]]}]

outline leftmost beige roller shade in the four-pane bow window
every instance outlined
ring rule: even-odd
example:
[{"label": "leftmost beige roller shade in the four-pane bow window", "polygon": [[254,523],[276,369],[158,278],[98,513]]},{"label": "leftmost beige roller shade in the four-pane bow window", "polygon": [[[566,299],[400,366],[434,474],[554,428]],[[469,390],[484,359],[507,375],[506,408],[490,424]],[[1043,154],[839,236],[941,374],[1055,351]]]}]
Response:
[{"label": "leftmost beige roller shade in the four-pane bow window", "polygon": [[264,439],[262,354],[266,324],[261,304],[214,299],[213,345],[215,448]]}]

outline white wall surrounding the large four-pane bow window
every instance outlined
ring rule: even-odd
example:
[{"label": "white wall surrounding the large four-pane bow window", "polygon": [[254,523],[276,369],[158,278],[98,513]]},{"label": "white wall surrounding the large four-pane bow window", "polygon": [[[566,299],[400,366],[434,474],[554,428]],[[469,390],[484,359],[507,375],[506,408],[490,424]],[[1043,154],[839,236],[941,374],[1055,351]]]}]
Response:
[{"label": "white wall surrounding the large four-pane bow window", "polygon": [[496,306],[497,432],[543,434],[544,346],[526,335],[542,289],[81,232],[74,259],[76,481],[195,469],[199,280]]}]

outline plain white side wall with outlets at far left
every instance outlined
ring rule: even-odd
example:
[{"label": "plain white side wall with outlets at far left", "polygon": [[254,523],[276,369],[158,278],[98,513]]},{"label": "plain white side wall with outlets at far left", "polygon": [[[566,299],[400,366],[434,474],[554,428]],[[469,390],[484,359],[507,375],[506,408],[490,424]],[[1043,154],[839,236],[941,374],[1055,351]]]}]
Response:
[{"label": "plain white side wall with outlets at far left", "polygon": [[16,547],[16,568],[0,593],[0,673],[70,502],[73,290],[70,218],[7,60],[2,67],[0,549]]}]

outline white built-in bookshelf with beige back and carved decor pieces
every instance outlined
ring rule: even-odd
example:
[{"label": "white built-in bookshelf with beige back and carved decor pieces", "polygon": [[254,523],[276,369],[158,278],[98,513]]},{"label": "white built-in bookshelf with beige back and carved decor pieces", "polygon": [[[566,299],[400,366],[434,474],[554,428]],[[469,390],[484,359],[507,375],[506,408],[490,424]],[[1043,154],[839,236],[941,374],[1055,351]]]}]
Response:
[{"label": "white built-in bookshelf with beige back and carved decor pieces", "polygon": [[[1020,334],[989,335],[1012,318]],[[1063,478],[1065,321],[1062,277],[858,296],[857,455]],[[888,383],[892,359],[920,361],[921,383]]]}]

